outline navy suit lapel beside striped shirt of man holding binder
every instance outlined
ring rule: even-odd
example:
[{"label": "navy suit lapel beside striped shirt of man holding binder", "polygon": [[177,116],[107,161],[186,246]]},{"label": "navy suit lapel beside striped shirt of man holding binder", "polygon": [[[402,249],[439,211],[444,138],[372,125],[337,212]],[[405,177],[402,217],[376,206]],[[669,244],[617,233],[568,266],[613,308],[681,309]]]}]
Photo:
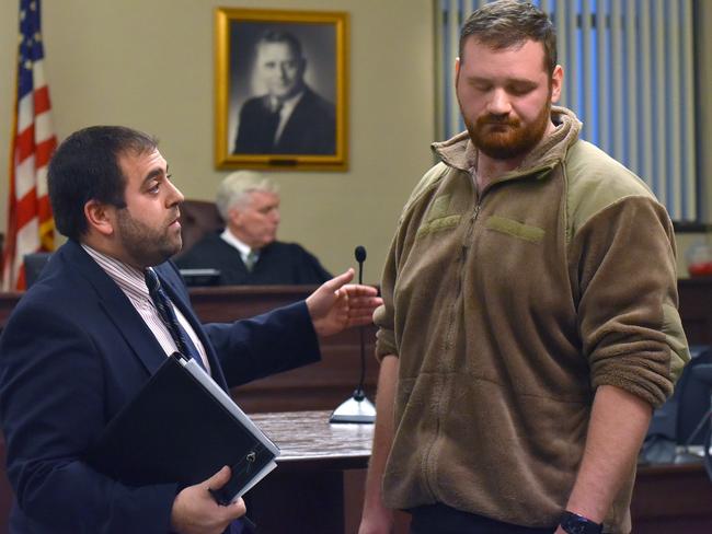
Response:
[{"label": "navy suit lapel beside striped shirt of man holding binder", "polygon": [[89,281],[99,295],[99,303],[116,326],[147,371],[153,374],[165,361],[165,352],[124,292],[89,254],[73,241],[61,248],[70,265]]}]

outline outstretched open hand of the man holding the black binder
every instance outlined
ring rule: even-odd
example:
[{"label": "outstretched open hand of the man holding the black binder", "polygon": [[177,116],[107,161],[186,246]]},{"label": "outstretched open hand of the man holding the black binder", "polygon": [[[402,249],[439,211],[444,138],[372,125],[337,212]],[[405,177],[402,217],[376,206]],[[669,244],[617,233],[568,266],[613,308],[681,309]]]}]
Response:
[{"label": "outstretched open hand of the man holding the black binder", "polygon": [[383,301],[376,288],[347,285],[354,278],[354,269],[322,283],[307,298],[307,307],[314,330],[320,337],[338,334],[352,326],[370,324],[374,310]]}]

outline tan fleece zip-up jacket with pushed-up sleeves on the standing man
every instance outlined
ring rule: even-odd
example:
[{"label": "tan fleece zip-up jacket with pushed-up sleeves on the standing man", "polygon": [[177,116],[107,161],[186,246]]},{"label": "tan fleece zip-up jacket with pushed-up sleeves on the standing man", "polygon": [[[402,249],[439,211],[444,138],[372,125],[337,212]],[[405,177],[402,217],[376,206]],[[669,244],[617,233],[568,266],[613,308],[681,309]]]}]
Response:
[{"label": "tan fleece zip-up jacket with pushed-up sleeves on the standing man", "polygon": [[[582,460],[594,392],[659,406],[689,359],[669,218],[640,178],[556,130],[478,195],[466,134],[399,221],[377,352],[400,358],[387,504],[443,502],[553,526]],[[630,531],[634,473],[606,520]]]}]

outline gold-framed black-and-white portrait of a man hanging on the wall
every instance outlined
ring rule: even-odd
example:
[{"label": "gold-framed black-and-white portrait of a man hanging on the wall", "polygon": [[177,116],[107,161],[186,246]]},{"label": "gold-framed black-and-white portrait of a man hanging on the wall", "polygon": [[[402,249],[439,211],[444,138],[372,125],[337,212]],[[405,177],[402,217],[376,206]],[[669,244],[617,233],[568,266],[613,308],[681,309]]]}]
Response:
[{"label": "gold-framed black-and-white portrait of a man hanging on the wall", "polygon": [[345,171],[347,43],[347,13],[216,9],[216,166]]}]

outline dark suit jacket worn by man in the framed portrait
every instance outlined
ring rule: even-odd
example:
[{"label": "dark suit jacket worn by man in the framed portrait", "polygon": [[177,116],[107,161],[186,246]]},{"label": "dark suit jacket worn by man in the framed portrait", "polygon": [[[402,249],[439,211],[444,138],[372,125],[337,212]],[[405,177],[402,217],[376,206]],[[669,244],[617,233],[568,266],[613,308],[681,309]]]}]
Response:
[{"label": "dark suit jacket worn by man in the framed portrait", "polygon": [[334,105],[306,88],[277,144],[269,127],[269,98],[250,98],[240,109],[236,154],[335,154]]}]

